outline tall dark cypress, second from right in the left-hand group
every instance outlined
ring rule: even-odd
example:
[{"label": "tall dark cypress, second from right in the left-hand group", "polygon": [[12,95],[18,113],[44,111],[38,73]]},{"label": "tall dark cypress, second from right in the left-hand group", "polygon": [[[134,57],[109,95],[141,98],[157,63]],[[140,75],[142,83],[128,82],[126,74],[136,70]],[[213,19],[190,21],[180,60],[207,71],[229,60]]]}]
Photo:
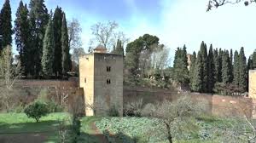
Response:
[{"label": "tall dark cypress, second from right in the left-hand group", "polygon": [[55,36],[55,56],[54,56],[54,64],[53,70],[55,76],[61,75],[62,72],[62,64],[61,64],[61,57],[62,57],[62,50],[61,50],[61,26],[62,26],[62,19],[63,14],[60,7],[55,9],[55,14],[53,17],[53,27],[54,27],[54,36]]}]

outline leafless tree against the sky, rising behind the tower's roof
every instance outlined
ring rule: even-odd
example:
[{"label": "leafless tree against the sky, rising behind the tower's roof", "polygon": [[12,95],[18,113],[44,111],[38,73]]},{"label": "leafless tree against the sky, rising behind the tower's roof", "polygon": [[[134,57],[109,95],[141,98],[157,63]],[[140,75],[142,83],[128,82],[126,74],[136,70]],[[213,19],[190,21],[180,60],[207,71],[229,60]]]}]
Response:
[{"label": "leafless tree against the sky, rising behind the tower's roof", "polygon": [[107,23],[98,22],[90,27],[93,38],[90,39],[90,46],[93,44],[102,44],[108,50],[118,41],[122,41],[122,45],[128,43],[129,39],[125,37],[125,33],[117,31],[119,25],[115,21]]}]

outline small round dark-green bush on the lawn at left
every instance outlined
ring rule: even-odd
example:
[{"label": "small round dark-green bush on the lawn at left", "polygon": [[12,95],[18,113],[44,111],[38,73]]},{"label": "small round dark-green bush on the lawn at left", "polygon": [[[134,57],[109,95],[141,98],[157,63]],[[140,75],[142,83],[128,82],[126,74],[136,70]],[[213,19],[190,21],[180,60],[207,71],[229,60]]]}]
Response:
[{"label": "small round dark-green bush on the lawn at left", "polygon": [[32,105],[26,106],[24,112],[27,117],[34,118],[38,123],[41,117],[44,117],[49,113],[49,109],[46,103],[36,101],[32,103]]}]

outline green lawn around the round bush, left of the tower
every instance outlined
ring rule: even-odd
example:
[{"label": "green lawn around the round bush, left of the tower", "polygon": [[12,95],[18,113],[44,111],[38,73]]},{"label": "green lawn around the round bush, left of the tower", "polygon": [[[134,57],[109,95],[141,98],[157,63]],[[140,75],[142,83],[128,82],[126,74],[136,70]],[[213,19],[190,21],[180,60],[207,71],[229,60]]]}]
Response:
[{"label": "green lawn around the round bush, left of the tower", "polygon": [[48,143],[58,142],[58,121],[68,118],[67,113],[50,113],[36,123],[34,119],[26,117],[25,113],[1,113],[0,142],[29,142],[30,139]]}]

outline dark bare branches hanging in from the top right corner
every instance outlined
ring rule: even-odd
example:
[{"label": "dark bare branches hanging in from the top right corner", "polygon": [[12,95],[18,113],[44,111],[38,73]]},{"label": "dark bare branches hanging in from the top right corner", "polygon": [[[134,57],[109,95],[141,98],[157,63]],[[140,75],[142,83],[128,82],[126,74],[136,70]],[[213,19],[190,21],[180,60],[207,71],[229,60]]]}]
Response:
[{"label": "dark bare branches hanging in from the top right corner", "polygon": [[207,5],[207,11],[211,10],[212,8],[218,8],[223,6],[224,4],[236,4],[244,2],[245,6],[249,5],[250,3],[255,3],[255,0],[209,0]]}]

